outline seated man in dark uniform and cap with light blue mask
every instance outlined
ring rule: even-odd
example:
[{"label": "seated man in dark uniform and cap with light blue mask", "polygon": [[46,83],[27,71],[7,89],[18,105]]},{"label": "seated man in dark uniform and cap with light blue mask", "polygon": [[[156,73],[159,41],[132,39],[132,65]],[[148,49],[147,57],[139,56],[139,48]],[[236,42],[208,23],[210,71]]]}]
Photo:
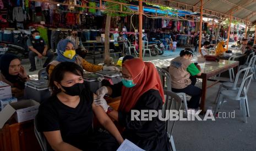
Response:
[{"label": "seated man in dark uniform and cap with light blue mask", "polygon": [[36,63],[35,63],[35,56],[39,57],[39,59],[42,58],[42,56],[46,56],[47,59],[45,63],[43,64],[43,68],[45,68],[48,63],[51,62],[53,59],[53,53],[48,51],[47,44],[45,43],[45,40],[43,40],[40,37],[39,31],[32,31],[32,36],[26,41],[26,44],[29,47],[29,60],[31,63],[31,68],[29,69],[30,72],[33,72],[36,70]]}]

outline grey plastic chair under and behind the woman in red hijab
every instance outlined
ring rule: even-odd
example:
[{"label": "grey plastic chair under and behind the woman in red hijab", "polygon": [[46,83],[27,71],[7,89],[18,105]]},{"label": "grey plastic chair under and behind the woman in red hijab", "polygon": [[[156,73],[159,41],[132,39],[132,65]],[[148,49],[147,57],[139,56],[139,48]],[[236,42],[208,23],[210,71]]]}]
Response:
[{"label": "grey plastic chair under and behind the woman in red hijab", "polygon": [[[162,109],[162,118],[168,118],[168,116],[166,116],[166,111],[170,111],[170,110],[176,110],[179,112],[179,110],[181,109],[182,106],[182,100],[181,98],[175,94],[174,92],[168,91],[168,90],[164,90],[165,93],[165,104],[164,107]],[[173,151],[176,151],[176,147],[175,147],[175,142],[172,136],[172,132],[175,126],[176,120],[167,120],[166,121],[166,132],[167,132],[167,137],[169,139],[169,142],[171,143],[171,148]]]}]

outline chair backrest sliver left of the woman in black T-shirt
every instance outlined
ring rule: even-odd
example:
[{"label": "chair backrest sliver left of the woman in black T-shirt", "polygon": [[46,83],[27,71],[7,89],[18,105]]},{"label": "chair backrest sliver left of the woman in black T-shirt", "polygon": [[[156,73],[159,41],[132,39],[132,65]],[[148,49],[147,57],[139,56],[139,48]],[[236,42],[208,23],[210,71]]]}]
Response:
[{"label": "chair backrest sliver left of the woman in black T-shirt", "polygon": [[39,142],[39,145],[40,145],[42,151],[51,150],[50,145],[48,144],[48,142],[47,142],[45,136],[43,135],[43,133],[38,131],[37,115],[34,119],[34,131],[35,131],[37,141]]}]

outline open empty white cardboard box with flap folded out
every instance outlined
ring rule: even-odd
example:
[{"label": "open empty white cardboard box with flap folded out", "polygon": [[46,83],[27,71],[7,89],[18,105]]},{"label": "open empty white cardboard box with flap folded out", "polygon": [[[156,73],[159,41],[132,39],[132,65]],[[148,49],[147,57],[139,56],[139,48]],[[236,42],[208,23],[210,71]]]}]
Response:
[{"label": "open empty white cardboard box with flap folded out", "polygon": [[15,113],[15,119],[18,123],[34,119],[39,108],[39,102],[34,100],[21,100],[7,104],[0,112],[0,129]]}]

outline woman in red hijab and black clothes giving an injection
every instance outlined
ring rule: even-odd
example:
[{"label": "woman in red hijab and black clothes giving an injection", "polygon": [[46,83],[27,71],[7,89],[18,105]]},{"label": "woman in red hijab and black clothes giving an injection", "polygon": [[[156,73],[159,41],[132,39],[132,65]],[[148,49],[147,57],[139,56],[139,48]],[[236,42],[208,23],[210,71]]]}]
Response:
[{"label": "woman in red hijab and black clothes giving an injection", "polygon": [[[155,66],[140,59],[130,59],[122,67],[122,83],[102,86],[97,90],[94,103],[104,108],[107,114],[124,127],[124,138],[144,150],[171,150],[165,130],[165,121],[158,116],[152,120],[132,120],[132,111],[162,110],[164,91]],[[121,95],[118,111],[113,110],[104,100],[104,95]],[[139,116],[139,118],[141,118]]]}]

